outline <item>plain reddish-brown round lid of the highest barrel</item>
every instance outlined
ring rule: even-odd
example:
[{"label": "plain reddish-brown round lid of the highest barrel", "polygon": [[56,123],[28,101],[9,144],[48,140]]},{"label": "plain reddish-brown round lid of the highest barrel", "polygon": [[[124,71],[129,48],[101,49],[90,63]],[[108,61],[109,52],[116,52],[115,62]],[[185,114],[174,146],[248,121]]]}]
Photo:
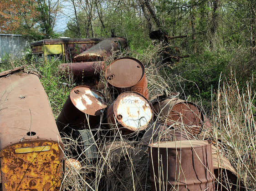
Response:
[{"label": "plain reddish-brown round lid of the highest barrel", "polygon": [[132,87],[144,76],[143,64],[134,58],[124,57],[108,65],[105,77],[114,87]]}]

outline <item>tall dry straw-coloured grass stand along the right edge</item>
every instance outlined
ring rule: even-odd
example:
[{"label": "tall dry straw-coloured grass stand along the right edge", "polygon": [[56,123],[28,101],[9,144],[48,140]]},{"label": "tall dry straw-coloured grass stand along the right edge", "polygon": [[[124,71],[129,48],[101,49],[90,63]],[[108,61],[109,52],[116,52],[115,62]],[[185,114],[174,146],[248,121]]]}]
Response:
[{"label": "tall dry straw-coloured grass stand along the right edge", "polygon": [[255,95],[251,82],[247,82],[245,89],[239,89],[236,80],[220,81],[217,100],[212,104],[215,139],[228,148],[222,152],[236,168],[246,190],[256,189]]}]

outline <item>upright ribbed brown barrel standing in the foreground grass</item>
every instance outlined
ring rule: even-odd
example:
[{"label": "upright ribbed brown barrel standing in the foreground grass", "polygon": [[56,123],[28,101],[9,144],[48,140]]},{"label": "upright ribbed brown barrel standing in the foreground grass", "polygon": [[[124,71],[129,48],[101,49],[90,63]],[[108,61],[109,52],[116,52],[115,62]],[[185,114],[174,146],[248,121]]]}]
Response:
[{"label": "upright ribbed brown barrel standing in the foreground grass", "polygon": [[211,144],[176,141],[148,145],[152,191],[214,191]]}]

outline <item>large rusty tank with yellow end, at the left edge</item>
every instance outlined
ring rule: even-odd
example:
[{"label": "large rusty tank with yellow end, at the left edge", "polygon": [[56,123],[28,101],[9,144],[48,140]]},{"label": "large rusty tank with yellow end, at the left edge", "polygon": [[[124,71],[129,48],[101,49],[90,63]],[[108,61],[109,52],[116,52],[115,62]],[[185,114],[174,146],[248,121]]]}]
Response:
[{"label": "large rusty tank with yellow end, at the left edge", "polygon": [[0,94],[3,191],[59,191],[64,147],[38,76],[0,73]]}]

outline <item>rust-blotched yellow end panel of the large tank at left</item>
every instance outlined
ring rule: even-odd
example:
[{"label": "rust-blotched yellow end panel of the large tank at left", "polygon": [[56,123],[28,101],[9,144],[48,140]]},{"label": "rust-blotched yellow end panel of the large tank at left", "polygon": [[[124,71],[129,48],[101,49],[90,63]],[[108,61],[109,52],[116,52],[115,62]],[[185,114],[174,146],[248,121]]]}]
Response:
[{"label": "rust-blotched yellow end panel of the large tank at left", "polygon": [[[43,145],[43,146],[39,146]],[[51,147],[49,151],[15,153],[27,147]],[[57,191],[61,186],[63,154],[57,142],[47,140],[21,142],[2,149],[0,162],[3,191],[27,189]]]}]

